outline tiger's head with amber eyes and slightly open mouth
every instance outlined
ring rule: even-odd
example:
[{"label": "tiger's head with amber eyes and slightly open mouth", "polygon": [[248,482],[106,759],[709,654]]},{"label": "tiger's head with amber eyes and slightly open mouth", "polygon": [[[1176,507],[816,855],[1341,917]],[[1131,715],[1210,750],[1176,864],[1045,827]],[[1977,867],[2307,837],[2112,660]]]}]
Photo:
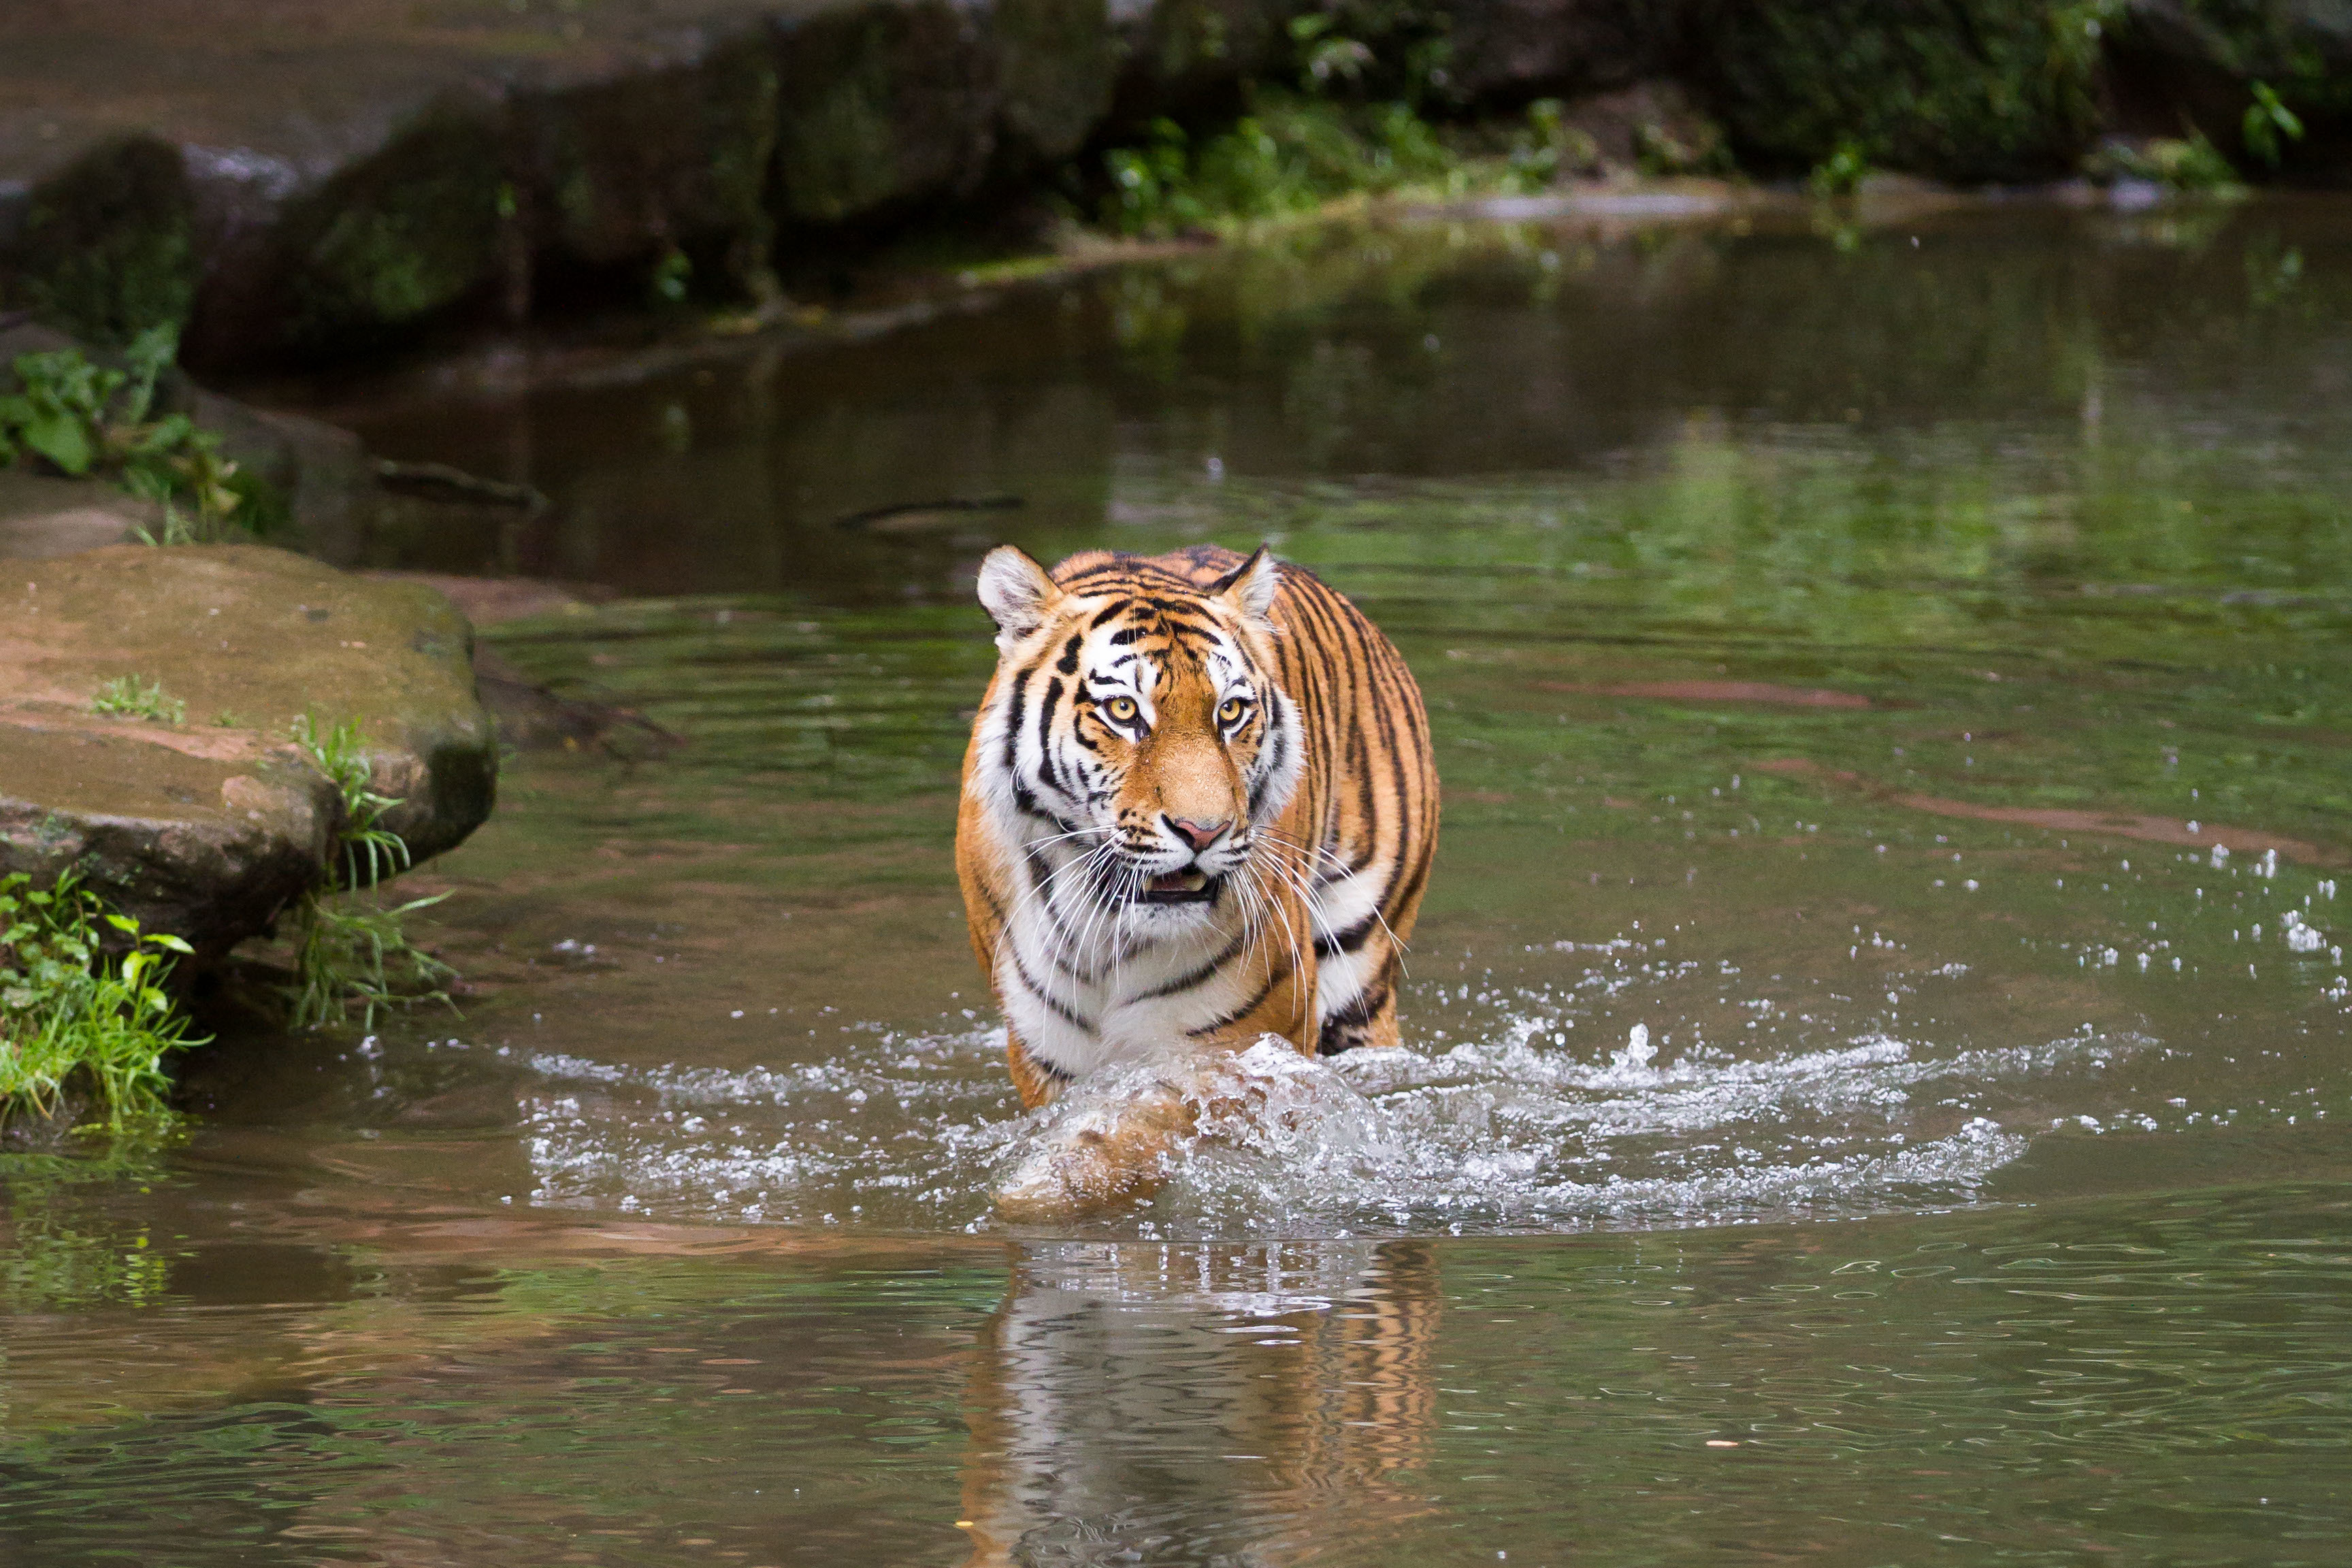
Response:
[{"label": "tiger's head with amber eyes and slightly open mouth", "polygon": [[1023,853],[1084,860],[1075,891],[1127,931],[1214,919],[1298,783],[1298,708],[1275,679],[1279,564],[1261,548],[1211,571],[1105,552],[1056,581],[1014,545],[981,564],[1000,663],[974,783]]}]

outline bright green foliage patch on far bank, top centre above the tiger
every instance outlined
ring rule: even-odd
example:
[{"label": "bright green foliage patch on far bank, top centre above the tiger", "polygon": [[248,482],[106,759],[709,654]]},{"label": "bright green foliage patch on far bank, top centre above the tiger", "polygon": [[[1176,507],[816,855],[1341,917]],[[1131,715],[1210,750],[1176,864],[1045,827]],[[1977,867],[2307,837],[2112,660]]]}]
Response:
[{"label": "bright green foliage patch on far bank, top centre above the tiger", "polygon": [[1145,146],[1112,148],[1103,221],[1129,235],[1230,228],[1359,190],[1444,181],[1458,167],[1406,103],[1263,94],[1256,113],[1197,143],[1174,120],[1155,120]]}]

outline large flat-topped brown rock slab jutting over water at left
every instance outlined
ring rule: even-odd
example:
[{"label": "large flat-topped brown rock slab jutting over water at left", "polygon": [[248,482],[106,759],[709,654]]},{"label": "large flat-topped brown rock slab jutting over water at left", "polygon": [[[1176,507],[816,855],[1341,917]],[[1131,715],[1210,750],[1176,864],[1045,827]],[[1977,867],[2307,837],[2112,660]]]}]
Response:
[{"label": "large flat-topped brown rock slab jutting over water at left", "polygon": [[[0,872],[89,886],[221,954],[320,879],[343,799],[292,743],[360,722],[414,858],[492,809],[496,738],[473,628],[440,592],[261,545],[108,545],[0,564]],[[118,677],[181,722],[106,717]]]}]

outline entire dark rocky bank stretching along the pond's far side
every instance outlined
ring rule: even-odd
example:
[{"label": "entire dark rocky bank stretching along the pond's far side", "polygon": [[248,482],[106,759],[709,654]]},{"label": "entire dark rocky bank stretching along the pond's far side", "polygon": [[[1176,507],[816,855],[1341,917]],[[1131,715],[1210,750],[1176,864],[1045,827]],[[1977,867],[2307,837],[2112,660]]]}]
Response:
[{"label": "entire dark rocky bank stretching along the pond's far side", "polygon": [[[1105,146],[1230,122],[1331,40],[1439,120],[1637,94],[1757,176],[1947,181],[2065,176],[2105,132],[2324,179],[2352,59],[2286,0],[73,0],[0,19],[0,284],[96,341],[186,322],[212,369],[614,301],[760,324],[877,235],[1035,230]],[[2310,134],[2249,141],[2256,82]]]}]

